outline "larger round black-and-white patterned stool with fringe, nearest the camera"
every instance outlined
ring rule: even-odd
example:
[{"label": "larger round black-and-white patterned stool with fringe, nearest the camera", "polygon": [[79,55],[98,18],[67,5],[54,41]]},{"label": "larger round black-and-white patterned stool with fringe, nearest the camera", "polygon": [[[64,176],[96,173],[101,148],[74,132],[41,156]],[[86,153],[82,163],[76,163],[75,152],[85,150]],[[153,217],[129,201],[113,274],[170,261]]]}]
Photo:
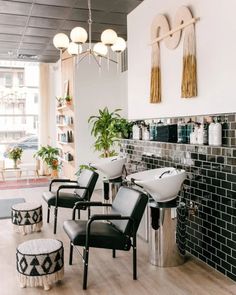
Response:
[{"label": "larger round black-and-white patterned stool with fringe, nearest the camera", "polygon": [[20,286],[50,285],[63,279],[64,249],[63,243],[55,239],[36,239],[26,241],[16,249],[16,269]]}]

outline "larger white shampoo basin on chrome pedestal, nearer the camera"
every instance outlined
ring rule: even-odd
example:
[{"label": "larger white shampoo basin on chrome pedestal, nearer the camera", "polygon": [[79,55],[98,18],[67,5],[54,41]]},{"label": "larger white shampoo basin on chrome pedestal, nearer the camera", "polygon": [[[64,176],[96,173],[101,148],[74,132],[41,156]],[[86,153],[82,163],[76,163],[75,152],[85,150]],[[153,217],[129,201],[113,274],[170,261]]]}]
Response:
[{"label": "larger white shampoo basin on chrome pedestal, nearer the camera", "polygon": [[150,194],[156,202],[168,202],[175,199],[186,178],[185,170],[173,167],[146,170],[126,177]]}]

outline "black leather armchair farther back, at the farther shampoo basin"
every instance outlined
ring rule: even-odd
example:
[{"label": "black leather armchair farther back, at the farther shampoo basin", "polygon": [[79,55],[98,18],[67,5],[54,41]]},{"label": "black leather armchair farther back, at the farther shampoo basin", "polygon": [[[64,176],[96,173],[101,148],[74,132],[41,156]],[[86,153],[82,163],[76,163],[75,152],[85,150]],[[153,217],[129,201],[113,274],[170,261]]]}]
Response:
[{"label": "black leather armchair farther back, at the farther shampoo basin", "polygon": [[[43,199],[48,204],[47,223],[50,221],[50,209],[54,206],[54,234],[57,231],[57,212],[58,207],[73,208],[75,203],[90,201],[98,174],[94,171],[84,169],[81,171],[77,180],[53,179],[49,185],[49,191],[43,193]],[[64,183],[60,185],[55,192],[52,191],[53,184]],[[63,190],[72,190],[65,192]],[[82,209],[86,209],[85,207]],[[88,210],[90,216],[90,209]]]}]

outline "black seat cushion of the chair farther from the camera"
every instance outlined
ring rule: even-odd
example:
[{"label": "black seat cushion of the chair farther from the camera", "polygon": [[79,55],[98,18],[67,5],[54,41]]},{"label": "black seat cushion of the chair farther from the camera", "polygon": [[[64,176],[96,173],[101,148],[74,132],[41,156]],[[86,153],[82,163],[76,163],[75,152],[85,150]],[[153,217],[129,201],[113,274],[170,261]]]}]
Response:
[{"label": "black seat cushion of the chair farther from the camera", "polygon": [[[44,192],[43,199],[48,203],[49,206],[55,206],[56,193]],[[60,192],[57,206],[73,208],[75,203],[79,201],[83,201],[83,199],[74,193]]]}]

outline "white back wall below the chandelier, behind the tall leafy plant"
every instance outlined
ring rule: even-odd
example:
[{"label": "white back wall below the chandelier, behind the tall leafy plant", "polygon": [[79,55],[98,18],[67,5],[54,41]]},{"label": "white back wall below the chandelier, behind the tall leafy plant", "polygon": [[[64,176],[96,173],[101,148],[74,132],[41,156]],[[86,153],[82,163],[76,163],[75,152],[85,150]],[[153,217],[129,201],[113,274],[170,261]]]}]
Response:
[{"label": "white back wall below the chandelier, behind the tall leafy plant", "polygon": [[101,152],[95,152],[88,118],[98,115],[98,110],[108,107],[110,111],[120,108],[127,117],[127,72],[118,73],[110,63],[108,71],[103,62],[101,74],[94,61],[85,58],[76,68],[76,138],[78,139],[78,164],[91,163]]}]

